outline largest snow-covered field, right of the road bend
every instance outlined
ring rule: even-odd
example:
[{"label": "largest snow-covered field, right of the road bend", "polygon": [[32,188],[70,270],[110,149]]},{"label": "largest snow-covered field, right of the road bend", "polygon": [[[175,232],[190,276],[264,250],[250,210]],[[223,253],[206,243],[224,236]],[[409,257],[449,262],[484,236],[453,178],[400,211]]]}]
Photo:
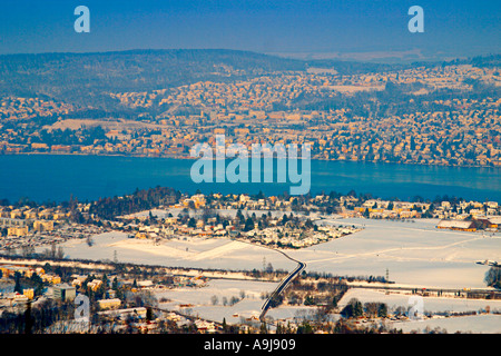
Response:
[{"label": "largest snow-covered field, right of the road bend", "polygon": [[483,288],[489,267],[477,260],[501,260],[501,236],[439,230],[438,220],[416,222],[372,219],[327,220],[365,227],[328,243],[292,250],[307,270],[346,276],[385,276],[422,287]]}]

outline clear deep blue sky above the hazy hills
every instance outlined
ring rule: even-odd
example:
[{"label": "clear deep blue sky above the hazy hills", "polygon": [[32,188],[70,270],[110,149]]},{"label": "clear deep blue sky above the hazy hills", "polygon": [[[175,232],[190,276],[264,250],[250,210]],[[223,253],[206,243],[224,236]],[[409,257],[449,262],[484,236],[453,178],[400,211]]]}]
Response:
[{"label": "clear deep blue sky above the hazy hills", "polygon": [[[226,48],[258,52],[501,52],[501,1],[1,0],[0,53]],[[73,9],[90,9],[77,33]],[[411,6],[424,33],[411,33]]]}]

